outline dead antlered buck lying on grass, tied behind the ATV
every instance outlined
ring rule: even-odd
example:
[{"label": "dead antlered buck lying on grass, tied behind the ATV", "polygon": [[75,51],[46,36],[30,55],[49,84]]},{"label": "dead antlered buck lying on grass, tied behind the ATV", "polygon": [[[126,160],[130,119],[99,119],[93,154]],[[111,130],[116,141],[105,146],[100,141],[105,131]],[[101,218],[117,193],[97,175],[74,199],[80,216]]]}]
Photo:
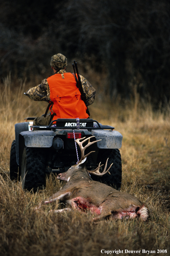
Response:
[{"label": "dead antlered buck lying on grass, tied behind the ATV", "polygon": [[[91,136],[90,138],[92,137],[94,136]],[[113,219],[129,219],[136,218],[137,216],[139,216],[143,221],[146,221],[149,217],[149,211],[137,197],[117,191],[110,186],[91,179],[89,173],[102,176],[109,171],[111,166],[106,170],[106,161],[105,168],[102,173],[99,171],[101,167],[100,164],[93,171],[88,171],[85,168],[87,156],[94,152],[91,151],[85,155],[85,149],[91,144],[97,142],[90,142],[90,138],[82,138],[84,139],[82,142],[80,142],[82,139],[76,139],[82,153],[81,159],[78,163],[70,167],[67,172],[58,174],[57,179],[65,180],[67,183],[60,191],[40,202],[36,207],[36,210],[38,210],[43,204],[59,201],[70,204],[73,209],[83,211],[90,210],[91,213],[97,214],[98,216],[93,218],[94,222],[107,219],[108,217],[112,217]],[[88,144],[83,147],[82,144],[87,140]],[[61,212],[64,210],[70,210],[70,208],[51,211]]]}]

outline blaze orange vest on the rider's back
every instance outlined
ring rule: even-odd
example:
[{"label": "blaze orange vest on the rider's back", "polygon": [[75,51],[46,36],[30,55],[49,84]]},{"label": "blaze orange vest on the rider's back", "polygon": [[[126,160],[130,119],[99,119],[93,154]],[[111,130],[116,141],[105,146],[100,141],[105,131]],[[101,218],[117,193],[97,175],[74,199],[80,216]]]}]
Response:
[{"label": "blaze orange vest on the rider's back", "polygon": [[[64,77],[64,78],[62,78]],[[50,88],[50,99],[54,103],[50,109],[57,118],[88,118],[86,105],[81,99],[81,93],[76,86],[76,80],[71,73],[54,74],[47,78]]]}]

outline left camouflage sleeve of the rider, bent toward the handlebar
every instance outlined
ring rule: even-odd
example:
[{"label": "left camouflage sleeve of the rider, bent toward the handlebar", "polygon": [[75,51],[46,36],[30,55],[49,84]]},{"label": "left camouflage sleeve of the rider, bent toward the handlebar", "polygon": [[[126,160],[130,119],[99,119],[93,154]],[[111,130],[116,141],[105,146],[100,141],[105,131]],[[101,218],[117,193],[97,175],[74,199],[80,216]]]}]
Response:
[{"label": "left camouflage sleeve of the rider, bent toward the handlebar", "polygon": [[46,79],[39,85],[27,90],[26,95],[35,101],[50,101],[50,90]]}]

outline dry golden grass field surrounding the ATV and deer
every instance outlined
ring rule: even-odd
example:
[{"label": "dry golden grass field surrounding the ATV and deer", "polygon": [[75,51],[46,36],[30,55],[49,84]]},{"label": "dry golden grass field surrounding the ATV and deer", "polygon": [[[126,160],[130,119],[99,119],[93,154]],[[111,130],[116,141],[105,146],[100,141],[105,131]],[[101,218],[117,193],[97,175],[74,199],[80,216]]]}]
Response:
[{"label": "dry golden grass field surrounding the ATV and deer", "polygon": [[92,118],[123,135],[121,191],[139,197],[150,211],[147,222],[94,224],[91,213],[49,214],[55,203],[34,212],[40,200],[61,187],[54,176],[36,194],[9,179],[14,124],[43,114],[47,105],[24,96],[32,86],[19,80],[14,85],[10,76],[0,84],[0,256],[170,255],[170,107],[153,112],[138,97],[90,107]]}]

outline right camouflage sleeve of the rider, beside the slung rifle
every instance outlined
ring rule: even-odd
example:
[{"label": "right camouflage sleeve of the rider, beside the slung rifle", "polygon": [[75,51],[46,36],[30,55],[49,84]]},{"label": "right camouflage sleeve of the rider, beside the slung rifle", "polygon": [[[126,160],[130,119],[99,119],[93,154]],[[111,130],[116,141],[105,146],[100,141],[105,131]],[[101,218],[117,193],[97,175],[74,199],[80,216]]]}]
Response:
[{"label": "right camouflage sleeve of the rider, beside the slung rifle", "polygon": [[86,106],[91,105],[94,102],[96,90],[91,85],[91,83],[89,83],[88,80],[85,79],[85,77],[82,77],[80,75],[80,80],[82,83],[83,92],[86,95]]}]

